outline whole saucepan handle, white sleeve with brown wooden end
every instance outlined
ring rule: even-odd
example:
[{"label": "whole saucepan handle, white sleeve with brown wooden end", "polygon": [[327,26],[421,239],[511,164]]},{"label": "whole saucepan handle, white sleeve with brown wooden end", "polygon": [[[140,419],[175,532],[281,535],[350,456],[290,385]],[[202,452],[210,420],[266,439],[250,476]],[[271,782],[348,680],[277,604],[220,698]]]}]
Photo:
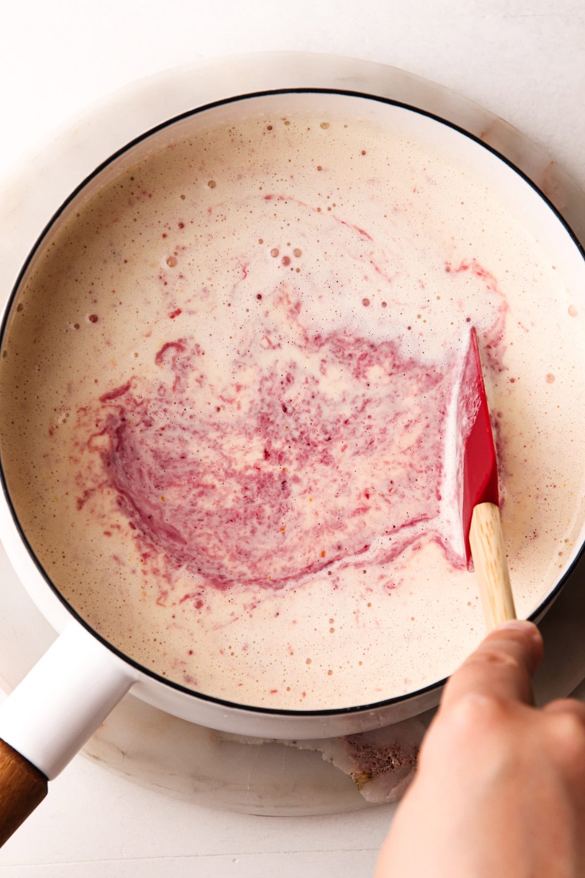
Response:
[{"label": "whole saucepan handle, white sleeve with brown wooden end", "polygon": [[135,679],[132,666],[72,622],[0,705],[0,845]]}]

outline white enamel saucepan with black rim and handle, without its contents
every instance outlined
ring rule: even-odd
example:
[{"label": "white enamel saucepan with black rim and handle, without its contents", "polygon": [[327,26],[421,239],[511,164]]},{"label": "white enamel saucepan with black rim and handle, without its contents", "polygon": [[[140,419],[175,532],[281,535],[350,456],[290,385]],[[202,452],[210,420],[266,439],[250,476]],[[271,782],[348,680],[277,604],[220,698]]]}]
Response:
[{"label": "white enamel saucepan with black rim and handle, without its contents", "polygon": [[[278,99],[282,108],[290,111],[302,106],[309,92],[310,99],[325,111],[378,120],[384,126],[396,123],[415,138],[431,137],[440,148],[473,169],[486,185],[504,188],[514,199],[526,227],[546,238],[574,286],[585,289],[585,262],[574,234],[546,197],[482,141],[443,119],[385,98],[333,90],[283,90]],[[214,123],[237,122],[251,109],[261,110],[274,99],[274,93],[260,93],[197,107],[144,133],[106,158],[61,205],[32,247],[4,308],[0,344],[9,331],[7,325],[20,284],[42,255],[47,236],[75,212],[79,200],[86,198],[104,176],[136,162],[146,150],[160,148],[203,121],[209,124],[211,117]],[[275,710],[224,702],[163,679],[104,641],[65,601],[59,582],[52,582],[35,558],[12,507],[4,471],[1,477],[4,490],[0,494],[0,537],[32,600],[61,634],[0,707],[0,841],[8,838],[45,795],[46,779],[52,780],[61,772],[131,689],[144,701],[193,723],[263,738],[330,738],[370,730],[414,716],[439,701],[444,681],[401,697],[347,709]],[[573,563],[532,618],[539,618],[550,607],[579,554],[577,547]]]}]

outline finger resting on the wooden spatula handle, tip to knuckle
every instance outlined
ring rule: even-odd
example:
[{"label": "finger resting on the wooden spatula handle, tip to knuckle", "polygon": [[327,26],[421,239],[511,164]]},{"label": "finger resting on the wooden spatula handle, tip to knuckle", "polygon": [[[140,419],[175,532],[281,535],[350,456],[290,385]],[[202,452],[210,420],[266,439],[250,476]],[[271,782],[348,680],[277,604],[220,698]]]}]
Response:
[{"label": "finger resting on the wooden spatula handle, tip to knuckle", "polygon": [[531,678],[542,659],[542,637],[530,622],[507,622],[493,630],[453,674],[441,707],[467,694],[531,702]]}]

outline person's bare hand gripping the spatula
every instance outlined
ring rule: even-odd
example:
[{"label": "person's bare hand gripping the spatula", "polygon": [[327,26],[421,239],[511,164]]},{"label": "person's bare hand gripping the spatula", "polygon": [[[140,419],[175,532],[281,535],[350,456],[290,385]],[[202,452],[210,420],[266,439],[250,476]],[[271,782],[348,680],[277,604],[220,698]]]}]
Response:
[{"label": "person's bare hand gripping the spatula", "polygon": [[585,875],[585,704],[531,706],[541,658],[505,623],[453,674],[376,878]]}]

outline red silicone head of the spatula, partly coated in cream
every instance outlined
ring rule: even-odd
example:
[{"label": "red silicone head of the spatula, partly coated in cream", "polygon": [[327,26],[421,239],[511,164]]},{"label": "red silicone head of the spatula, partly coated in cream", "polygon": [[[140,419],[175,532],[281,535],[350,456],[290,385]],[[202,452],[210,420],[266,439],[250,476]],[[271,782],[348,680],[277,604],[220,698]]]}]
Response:
[{"label": "red silicone head of the spatula, partly coated in cream", "polygon": [[499,505],[496,447],[474,328],[469,337],[457,399],[457,489],[469,569],[469,529],[474,507],[478,503]]}]

